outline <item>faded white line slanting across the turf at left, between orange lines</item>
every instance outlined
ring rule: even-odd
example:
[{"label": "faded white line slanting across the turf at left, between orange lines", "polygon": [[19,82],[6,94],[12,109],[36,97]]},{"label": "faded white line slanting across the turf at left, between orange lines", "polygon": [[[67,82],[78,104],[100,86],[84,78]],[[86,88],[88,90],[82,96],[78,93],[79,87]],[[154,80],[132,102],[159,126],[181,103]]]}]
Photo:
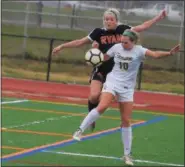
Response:
[{"label": "faded white line slanting across the turf at left, between orange lines", "polygon": [[44,120],[36,120],[36,121],[27,122],[27,123],[20,124],[20,125],[11,125],[11,126],[7,126],[7,127],[2,127],[2,129],[12,129],[12,128],[32,126],[32,125],[35,125],[35,124],[41,124],[41,123],[46,123],[46,122],[51,122],[51,121],[58,121],[58,120],[61,120],[63,118],[70,118],[70,117],[74,117],[74,116],[73,115],[68,115],[68,116],[60,116],[60,117],[50,117],[50,118],[46,118]]}]

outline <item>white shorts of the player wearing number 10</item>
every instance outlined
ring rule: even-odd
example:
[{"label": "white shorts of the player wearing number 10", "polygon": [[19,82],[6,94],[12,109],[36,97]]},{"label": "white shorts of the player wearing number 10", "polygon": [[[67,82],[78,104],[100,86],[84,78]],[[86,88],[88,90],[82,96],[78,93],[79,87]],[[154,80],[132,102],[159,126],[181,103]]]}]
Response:
[{"label": "white shorts of the player wearing number 10", "polygon": [[133,102],[134,100],[134,89],[123,87],[120,90],[120,88],[116,88],[116,86],[110,82],[104,83],[102,92],[108,92],[113,94],[114,96],[117,96],[118,102]]}]

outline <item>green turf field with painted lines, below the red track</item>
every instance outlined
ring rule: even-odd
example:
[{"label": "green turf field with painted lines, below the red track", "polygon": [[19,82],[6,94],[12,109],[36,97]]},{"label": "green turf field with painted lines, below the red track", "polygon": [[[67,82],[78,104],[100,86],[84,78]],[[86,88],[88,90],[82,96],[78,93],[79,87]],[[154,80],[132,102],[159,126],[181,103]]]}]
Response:
[{"label": "green turf field with painted lines, below the red track", "polygon": [[[32,100],[13,103],[17,100],[22,99],[1,102],[3,166],[123,165],[120,132],[112,129],[120,125],[117,110],[109,108],[93,133],[87,131],[83,141],[74,142],[72,133],[87,106]],[[184,166],[183,115],[133,111],[132,123],[135,165]]]}]

